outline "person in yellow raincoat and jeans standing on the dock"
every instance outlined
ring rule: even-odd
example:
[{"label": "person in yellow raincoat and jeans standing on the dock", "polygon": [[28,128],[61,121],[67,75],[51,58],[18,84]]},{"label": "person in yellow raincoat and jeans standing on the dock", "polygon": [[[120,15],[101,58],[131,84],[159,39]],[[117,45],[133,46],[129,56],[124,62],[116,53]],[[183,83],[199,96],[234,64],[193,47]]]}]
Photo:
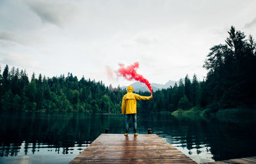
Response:
[{"label": "person in yellow raincoat and jeans standing on the dock", "polygon": [[124,135],[128,135],[129,131],[129,119],[132,116],[133,121],[133,131],[134,136],[137,136],[138,133],[136,131],[137,129],[137,119],[136,119],[136,100],[151,100],[151,96],[140,96],[139,94],[132,93],[133,87],[128,86],[127,87],[127,94],[124,95],[123,101],[122,101],[122,114],[125,113],[125,133]]}]

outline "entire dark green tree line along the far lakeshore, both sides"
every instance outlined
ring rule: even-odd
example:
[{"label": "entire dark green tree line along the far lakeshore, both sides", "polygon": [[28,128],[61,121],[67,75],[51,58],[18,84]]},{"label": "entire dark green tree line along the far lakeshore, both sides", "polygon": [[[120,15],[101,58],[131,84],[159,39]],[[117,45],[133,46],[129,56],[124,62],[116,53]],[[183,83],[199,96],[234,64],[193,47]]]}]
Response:
[{"label": "entire dark green tree line along the far lakeshore, both sides", "polygon": [[[256,107],[256,45],[252,36],[246,38],[232,26],[225,43],[210,49],[204,68],[208,72],[203,81],[187,75],[179,84],[154,92],[152,100],[138,101],[138,112]],[[120,113],[125,93],[102,81],[78,80],[72,73],[52,78],[33,73],[29,80],[26,70],[9,70],[6,65],[1,74],[0,68],[0,110]]]}]

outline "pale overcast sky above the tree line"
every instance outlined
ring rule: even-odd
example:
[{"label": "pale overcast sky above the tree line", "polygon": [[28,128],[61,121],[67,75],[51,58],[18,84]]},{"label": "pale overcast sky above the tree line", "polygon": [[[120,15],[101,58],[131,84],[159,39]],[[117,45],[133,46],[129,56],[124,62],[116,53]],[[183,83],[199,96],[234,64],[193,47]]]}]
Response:
[{"label": "pale overcast sky above the tree line", "polygon": [[138,73],[165,84],[196,73],[209,48],[225,43],[231,26],[256,38],[256,1],[0,0],[0,64],[46,77],[68,72],[109,79],[107,67],[140,63]]}]

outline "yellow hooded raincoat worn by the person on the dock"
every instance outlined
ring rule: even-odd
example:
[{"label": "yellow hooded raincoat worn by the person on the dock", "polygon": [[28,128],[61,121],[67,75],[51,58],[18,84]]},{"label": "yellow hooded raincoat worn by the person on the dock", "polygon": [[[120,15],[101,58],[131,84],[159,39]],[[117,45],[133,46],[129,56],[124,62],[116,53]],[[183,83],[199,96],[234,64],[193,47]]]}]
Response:
[{"label": "yellow hooded raincoat worn by the person on the dock", "polygon": [[127,87],[127,94],[124,95],[122,101],[122,114],[136,114],[137,103],[136,100],[150,100],[151,96],[140,96],[139,94],[132,93],[133,87]]}]

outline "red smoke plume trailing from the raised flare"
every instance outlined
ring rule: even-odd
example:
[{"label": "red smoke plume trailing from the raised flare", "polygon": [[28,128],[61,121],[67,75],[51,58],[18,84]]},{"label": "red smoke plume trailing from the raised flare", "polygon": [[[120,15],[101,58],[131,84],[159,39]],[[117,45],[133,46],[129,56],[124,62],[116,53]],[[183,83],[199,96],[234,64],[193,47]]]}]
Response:
[{"label": "red smoke plume trailing from the raised flare", "polygon": [[139,68],[139,63],[136,62],[132,64],[131,66],[127,66],[126,68],[124,67],[124,64],[118,64],[120,68],[117,71],[118,76],[122,76],[126,78],[127,80],[136,80],[143,82],[146,84],[148,89],[150,90],[150,93],[152,94],[152,87],[151,84],[148,82],[146,78],[143,77],[143,75],[140,75],[136,72],[136,69]]}]

